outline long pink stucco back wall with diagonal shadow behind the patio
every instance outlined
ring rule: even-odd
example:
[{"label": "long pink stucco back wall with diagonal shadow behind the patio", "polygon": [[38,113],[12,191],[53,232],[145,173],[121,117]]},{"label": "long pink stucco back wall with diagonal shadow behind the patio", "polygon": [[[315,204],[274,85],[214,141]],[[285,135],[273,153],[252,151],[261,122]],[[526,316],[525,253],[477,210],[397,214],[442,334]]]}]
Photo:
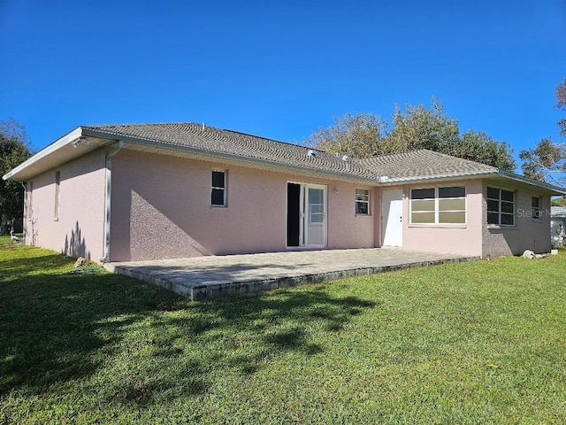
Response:
[{"label": "long pink stucco back wall with diagonal shadow behind the patio", "polygon": [[[226,208],[210,206],[212,170],[226,170]],[[111,261],[287,251],[287,182],[325,184],[328,248],[374,246],[354,184],[122,150],[112,158]]]}]

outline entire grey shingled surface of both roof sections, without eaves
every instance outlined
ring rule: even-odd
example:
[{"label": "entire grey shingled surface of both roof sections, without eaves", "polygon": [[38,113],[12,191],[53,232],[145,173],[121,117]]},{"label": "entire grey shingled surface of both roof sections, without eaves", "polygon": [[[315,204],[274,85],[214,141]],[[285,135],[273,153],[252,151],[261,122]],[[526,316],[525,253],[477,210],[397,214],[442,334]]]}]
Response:
[{"label": "entire grey shingled surface of both roof sections, without eaves", "polygon": [[211,154],[227,154],[234,158],[268,161],[280,166],[310,168],[322,173],[344,174],[379,181],[389,179],[434,178],[460,174],[497,173],[497,168],[433,151],[408,151],[374,158],[350,158],[349,169],[340,155],[317,151],[307,155],[309,148],[277,142],[256,135],[211,128],[196,123],[122,124],[84,126],[115,137],[134,137],[167,145],[198,149]]}]

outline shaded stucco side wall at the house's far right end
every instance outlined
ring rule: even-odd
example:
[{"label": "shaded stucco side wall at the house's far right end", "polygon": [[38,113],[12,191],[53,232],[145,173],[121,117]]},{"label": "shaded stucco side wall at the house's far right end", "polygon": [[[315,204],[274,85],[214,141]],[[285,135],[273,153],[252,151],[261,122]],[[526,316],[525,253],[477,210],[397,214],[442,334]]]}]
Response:
[{"label": "shaded stucco side wall at the house's far right end", "polygon": [[[501,187],[484,183],[484,204],[482,206],[483,223],[487,223],[487,186]],[[550,241],[550,196],[542,195],[532,189],[516,189],[512,186],[501,189],[515,190],[515,226],[498,227],[484,224],[482,256],[501,257],[520,255],[525,250],[536,253],[549,252]],[[540,220],[532,218],[532,197],[541,197]]]}]

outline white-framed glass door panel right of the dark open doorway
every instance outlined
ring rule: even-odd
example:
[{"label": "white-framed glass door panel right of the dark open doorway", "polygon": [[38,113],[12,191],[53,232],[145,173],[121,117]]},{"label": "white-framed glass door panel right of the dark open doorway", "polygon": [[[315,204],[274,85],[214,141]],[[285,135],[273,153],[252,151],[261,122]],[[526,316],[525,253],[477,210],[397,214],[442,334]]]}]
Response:
[{"label": "white-framed glass door panel right of the dark open doorway", "polygon": [[305,245],[312,248],[326,246],[326,187],[305,185],[304,229]]}]

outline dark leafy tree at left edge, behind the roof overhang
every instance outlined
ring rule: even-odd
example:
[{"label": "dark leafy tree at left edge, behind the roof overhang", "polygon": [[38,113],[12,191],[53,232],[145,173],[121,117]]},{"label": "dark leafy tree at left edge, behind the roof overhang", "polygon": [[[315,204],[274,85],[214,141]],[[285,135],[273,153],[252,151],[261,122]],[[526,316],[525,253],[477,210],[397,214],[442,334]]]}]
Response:
[{"label": "dark leafy tree at left edge, behind the roof overhang", "polygon": [[[29,140],[26,128],[18,121],[0,121],[0,176],[8,173],[29,158]],[[24,214],[24,188],[20,182],[6,182],[0,178],[0,219],[2,230],[4,223],[13,226],[16,219]]]}]

